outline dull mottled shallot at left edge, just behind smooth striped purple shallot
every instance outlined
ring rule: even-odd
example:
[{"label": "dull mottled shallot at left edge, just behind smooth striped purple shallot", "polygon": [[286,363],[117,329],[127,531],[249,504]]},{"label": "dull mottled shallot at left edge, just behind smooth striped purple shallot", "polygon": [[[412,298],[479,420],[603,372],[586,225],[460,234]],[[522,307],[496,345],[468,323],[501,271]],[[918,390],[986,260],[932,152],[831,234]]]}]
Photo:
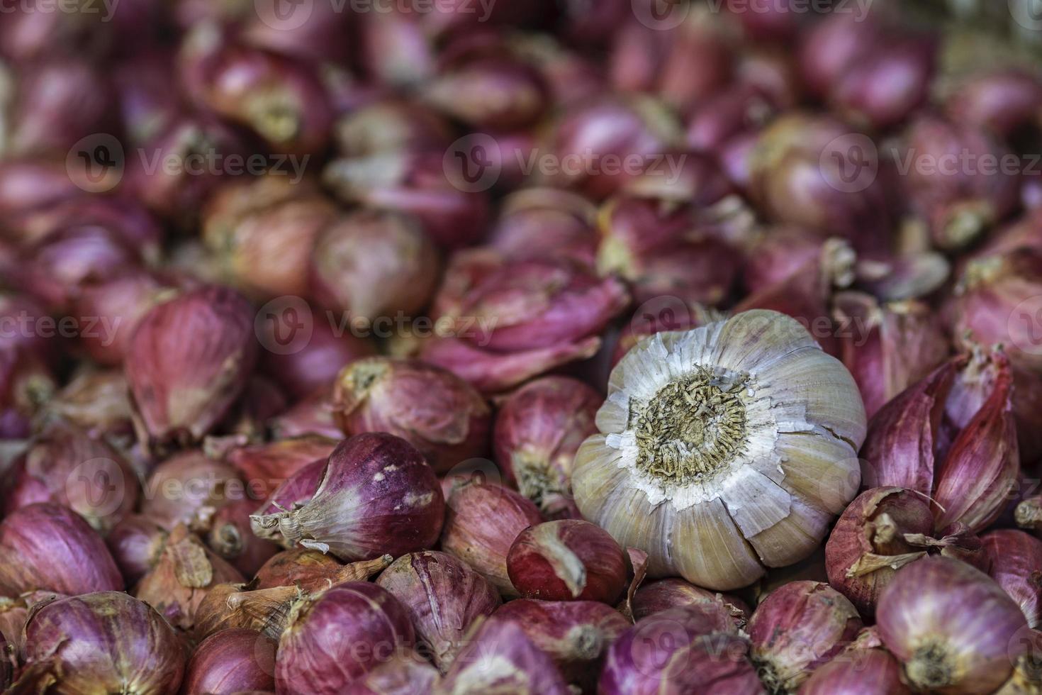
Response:
[{"label": "dull mottled shallot at left edge, just behind smooth striped purple shallot", "polygon": [[35,502],[64,504],[102,535],[138,504],[141,486],[130,465],[103,440],[54,422],[8,471],[4,508]]}]

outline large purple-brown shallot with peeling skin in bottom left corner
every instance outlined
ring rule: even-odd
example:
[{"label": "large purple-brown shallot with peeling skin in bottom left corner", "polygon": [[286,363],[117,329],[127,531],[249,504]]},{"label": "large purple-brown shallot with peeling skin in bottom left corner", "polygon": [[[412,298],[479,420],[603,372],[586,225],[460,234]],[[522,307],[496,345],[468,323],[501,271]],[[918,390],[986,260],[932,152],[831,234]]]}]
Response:
[{"label": "large purple-brown shallot with peeling skin in bottom left corner", "polygon": [[175,695],[187,659],[180,638],[144,601],[115,591],[60,598],[29,617],[19,685],[70,693]]}]

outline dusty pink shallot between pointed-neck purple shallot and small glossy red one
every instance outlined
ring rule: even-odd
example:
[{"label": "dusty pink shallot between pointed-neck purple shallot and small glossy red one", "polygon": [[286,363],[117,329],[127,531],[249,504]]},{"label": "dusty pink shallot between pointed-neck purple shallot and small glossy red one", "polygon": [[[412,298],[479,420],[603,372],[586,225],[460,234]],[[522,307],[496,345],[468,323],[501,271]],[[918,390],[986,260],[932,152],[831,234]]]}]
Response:
[{"label": "dusty pink shallot between pointed-neck purple shallot and small glossy red one", "polygon": [[441,546],[492,582],[504,597],[516,597],[506,555],[518,535],[543,519],[530,500],[496,483],[470,482],[453,489]]}]

